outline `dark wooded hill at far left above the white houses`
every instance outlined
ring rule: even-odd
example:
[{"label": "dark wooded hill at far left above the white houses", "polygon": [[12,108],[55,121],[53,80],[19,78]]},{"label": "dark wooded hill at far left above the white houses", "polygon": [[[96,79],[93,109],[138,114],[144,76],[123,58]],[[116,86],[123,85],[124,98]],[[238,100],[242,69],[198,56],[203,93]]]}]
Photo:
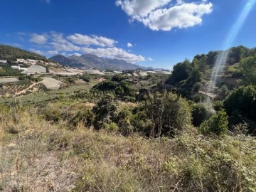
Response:
[{"label": "dark wooded hill at far left above the white houses", "polygon": [[4,46],[0,44],[1,60],[16,60],[17,58],[35,59],[49,62],[46,57],[38,55],[37,53],[31,53],[27,50],[22,50],[20,48],[14,48],[12,46]]}]

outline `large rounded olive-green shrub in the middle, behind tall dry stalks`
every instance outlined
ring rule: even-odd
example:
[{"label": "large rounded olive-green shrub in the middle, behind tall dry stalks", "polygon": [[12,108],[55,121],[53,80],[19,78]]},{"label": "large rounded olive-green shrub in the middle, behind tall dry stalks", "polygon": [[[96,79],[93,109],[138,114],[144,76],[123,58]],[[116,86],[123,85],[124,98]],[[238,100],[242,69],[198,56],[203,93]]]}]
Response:
[{"label": "large rounded olive-green shrub in the middle, behind tall dry stalks", "polygon": [[173,137],[191,124],[191,109],[180,96],[169,93],[156,93],[144,105],[147,117],[153,122],[150,137]]}]

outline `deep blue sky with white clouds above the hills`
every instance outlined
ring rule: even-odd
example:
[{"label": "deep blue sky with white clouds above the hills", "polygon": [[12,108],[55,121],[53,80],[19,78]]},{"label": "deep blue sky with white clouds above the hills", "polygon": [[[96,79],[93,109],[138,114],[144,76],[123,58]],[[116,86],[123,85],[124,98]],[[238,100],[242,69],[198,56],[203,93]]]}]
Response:
[{"label": "deep blue sky with white clouds above the hills", "polygon": [[46,57],[90,53],[171,69],[228,46],[256,47],[256,0],[1,0],[0,44]]}]

